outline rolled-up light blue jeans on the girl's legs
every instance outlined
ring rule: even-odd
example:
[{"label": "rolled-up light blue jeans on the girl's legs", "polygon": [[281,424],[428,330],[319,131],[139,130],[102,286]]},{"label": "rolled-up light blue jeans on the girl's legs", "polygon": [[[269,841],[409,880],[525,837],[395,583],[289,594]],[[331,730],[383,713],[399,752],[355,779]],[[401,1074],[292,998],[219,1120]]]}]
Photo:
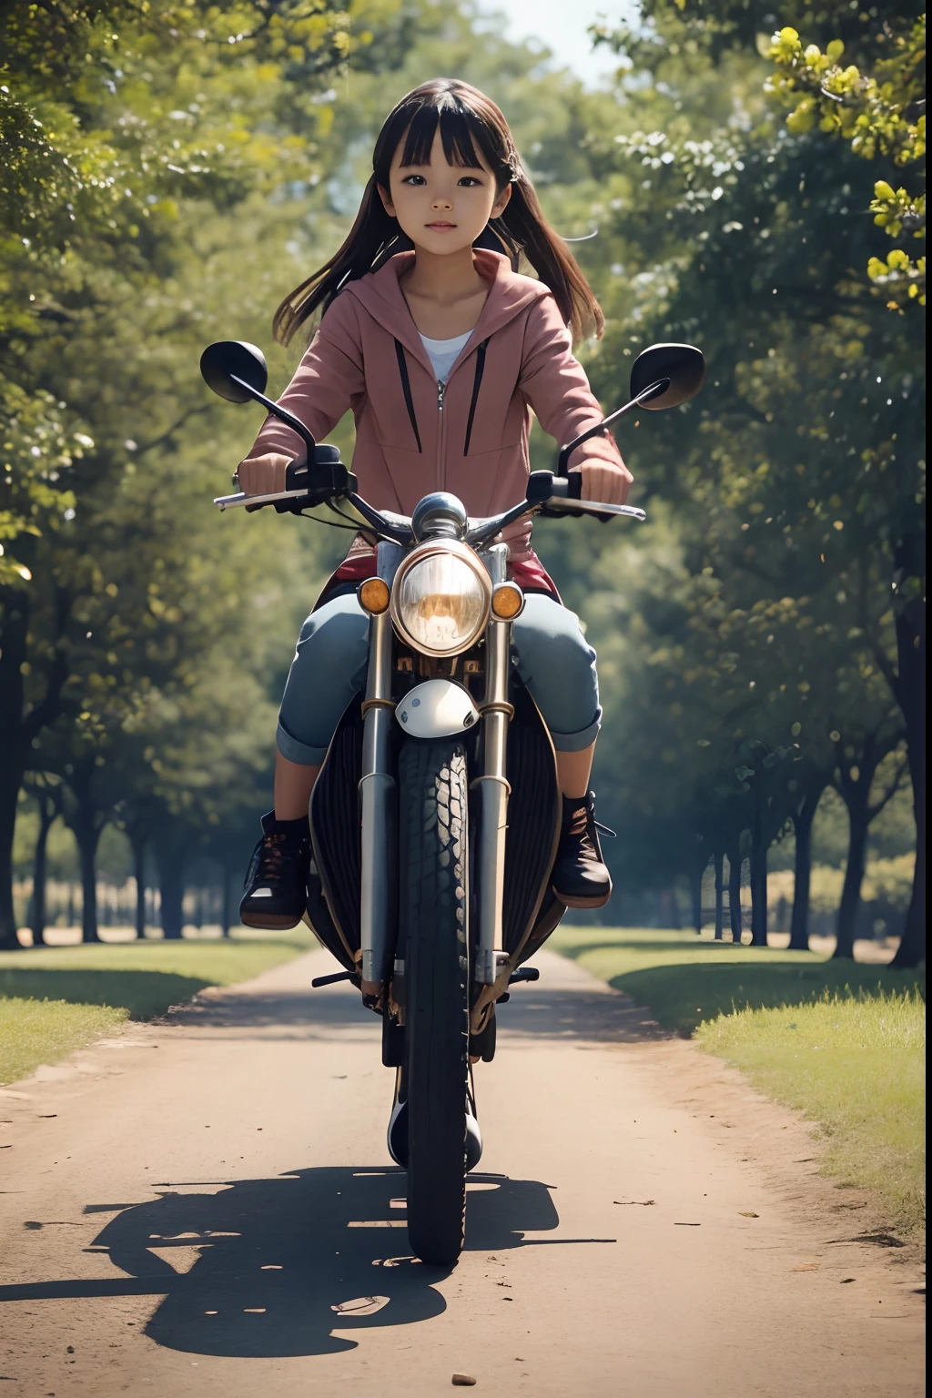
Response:
[{"label": "rolled-up light blue jeans on the girl's legs", "polygon": [[[320,766],[340,717],[366,688],[369,618],[355,593],[334,597],[300,628],[278,713],[278,751],[289,762]],[[595,742],[602,710],[595,651],[578,617],[552,597],[531,593],[511,628],[511,661],[537,702],[558,752]]]}]

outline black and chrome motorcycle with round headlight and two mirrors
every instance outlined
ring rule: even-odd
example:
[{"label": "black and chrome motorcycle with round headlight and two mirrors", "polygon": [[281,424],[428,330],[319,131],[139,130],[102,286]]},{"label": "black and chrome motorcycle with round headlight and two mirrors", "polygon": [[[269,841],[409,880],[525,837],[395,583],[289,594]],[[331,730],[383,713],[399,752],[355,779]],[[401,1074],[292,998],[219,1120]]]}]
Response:
[{"label": "black and chrome motorcycle with round headlight and two mirrors", "polygon": [[446,492],[425,495],[409,519],[374,509],[338,449],[265,397],[254,345],[210,345],[201,373],[222,398],[260,403],[307,447],[284,491],[219,496],[221,510],[323,506],[345,520],[341,506],[351,506],[377,540],[374,575],[358,584],[369,617],[366,689],[344,712],[313,790],[305,920],[344,966],[313,986],[349,980],[381,1016],[381,1061],[395,1069],[388,1151],[408,1174],[411,1248],[449,1267],[463,1250],[467,1173],[482,1152],[471,1064],[495,1057],[496,1009],[510,986],[538,979],[527,962],[566,911],[551,888],[560,829],[553,744],[510,664],[524,596],[496,537],[537,513],[643,520],[634,506],[580,499],[570,456],[636,407],[692,398],[703,355],[680,344],[644,350],[630,401],[489,519],[469,519]]}]

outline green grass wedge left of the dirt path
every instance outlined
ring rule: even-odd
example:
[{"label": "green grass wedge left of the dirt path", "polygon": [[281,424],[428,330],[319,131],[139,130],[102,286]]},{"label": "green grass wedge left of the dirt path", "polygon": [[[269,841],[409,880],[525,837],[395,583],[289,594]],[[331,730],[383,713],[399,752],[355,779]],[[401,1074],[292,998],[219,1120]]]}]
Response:
[{"label": "green grass wedge left of the dirt path", "polygon": [[207,986],[231,986],[316,945],[305,928],[231,941],[38,946],[0,953],[0,1083]]}]

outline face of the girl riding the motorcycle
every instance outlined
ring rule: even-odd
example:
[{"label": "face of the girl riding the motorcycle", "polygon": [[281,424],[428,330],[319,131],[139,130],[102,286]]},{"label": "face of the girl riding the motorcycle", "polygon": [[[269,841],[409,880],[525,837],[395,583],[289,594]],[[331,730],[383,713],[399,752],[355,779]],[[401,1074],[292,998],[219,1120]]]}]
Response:
[{"label": "face of the girl riding the motorcycle", "polygon": [[447,165],[440,123],[430,148],[429,165],[401,165],[404,137],[391,161],[390,189],[379,186],[381,203],[415,247],[443,256],[471,247],[490,218],[497,218],[511,197],[502,193],[495,176],[476,150],[476,166]]}]

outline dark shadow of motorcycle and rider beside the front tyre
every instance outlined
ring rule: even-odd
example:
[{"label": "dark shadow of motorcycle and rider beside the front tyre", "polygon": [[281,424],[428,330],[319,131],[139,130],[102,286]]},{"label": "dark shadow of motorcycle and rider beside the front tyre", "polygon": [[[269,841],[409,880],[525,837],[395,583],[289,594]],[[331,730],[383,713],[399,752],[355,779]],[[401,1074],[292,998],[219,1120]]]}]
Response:
[{"label": "dark shadow of motorcycle and rider beside the front tyre", "polygon": [[[354,1331],[446,1309],[435,1283],[447,1271],[409,1255],[404,1172],[321,1167],[183,1192],[211,1183],[165,1184],[148,1204],[87,1205],[85,1213],[119,1209],[92,1251],[127,1275],[0,1286],[0,1303],[162,1296],[150,1339],[242,1357],[338,1353],[356,1348]],[[559,1223],[548,1186],[496,1174],[472,1174],[469,1184],[468,1250],[565,1241],[524,1239]]]}]

